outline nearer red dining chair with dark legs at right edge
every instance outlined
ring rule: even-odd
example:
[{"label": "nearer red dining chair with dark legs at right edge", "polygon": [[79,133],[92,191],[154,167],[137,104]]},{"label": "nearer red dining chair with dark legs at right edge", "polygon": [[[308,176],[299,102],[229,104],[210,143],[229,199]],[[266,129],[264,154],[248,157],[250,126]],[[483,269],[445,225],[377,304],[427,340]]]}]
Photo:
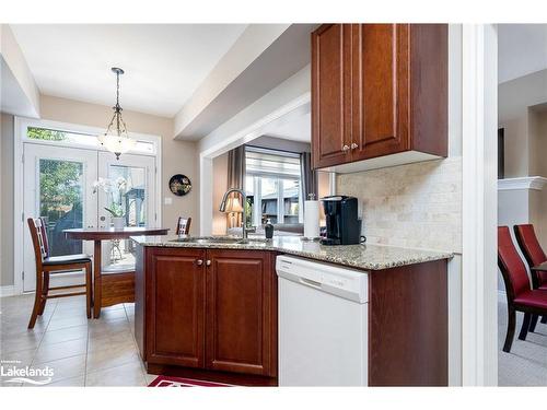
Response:
[{"label": "nearer red dining chair with dark legs at right edge", "polygon": [[520,340],[526,340],[532,315],[547,315],[547,292],[531,289],[526,267],[516,251],[508,226],[498,226],[498,267],[508,297],[508,331],[503,351],[510,352],[516,326],[516,312],[524,313]]}]

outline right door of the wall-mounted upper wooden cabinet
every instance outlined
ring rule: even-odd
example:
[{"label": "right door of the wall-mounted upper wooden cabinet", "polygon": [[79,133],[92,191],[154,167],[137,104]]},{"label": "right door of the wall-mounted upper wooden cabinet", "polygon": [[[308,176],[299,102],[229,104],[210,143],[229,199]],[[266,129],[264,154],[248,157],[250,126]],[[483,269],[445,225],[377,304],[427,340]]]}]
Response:
[{"label": "right door of the wall-mounted upper wooden cabinet", "polygon": [[410,149],[409,25],[352,27],[351,160]]}]

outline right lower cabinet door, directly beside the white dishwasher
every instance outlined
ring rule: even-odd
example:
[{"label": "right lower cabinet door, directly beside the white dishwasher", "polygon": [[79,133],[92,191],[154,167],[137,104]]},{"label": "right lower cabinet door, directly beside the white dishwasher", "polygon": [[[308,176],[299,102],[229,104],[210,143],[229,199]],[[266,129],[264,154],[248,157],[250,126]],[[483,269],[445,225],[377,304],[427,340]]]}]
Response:
[{"label": "right lower cabinet door, directly beside the white dishwasher", "polygon": [[209,249],[207,259],[206,367],[276,376],[272,256]]}]

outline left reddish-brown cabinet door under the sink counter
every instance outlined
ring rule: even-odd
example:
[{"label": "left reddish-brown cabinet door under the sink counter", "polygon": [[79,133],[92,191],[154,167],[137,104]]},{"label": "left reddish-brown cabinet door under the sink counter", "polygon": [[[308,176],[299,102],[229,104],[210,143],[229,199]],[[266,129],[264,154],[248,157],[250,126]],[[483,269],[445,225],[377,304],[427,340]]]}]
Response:
[{"label": "left reddish-brown cabinet door under the sink counter", "polygon": [[148,362],[203,367],[205,251],[154,250],[148,271]]}]

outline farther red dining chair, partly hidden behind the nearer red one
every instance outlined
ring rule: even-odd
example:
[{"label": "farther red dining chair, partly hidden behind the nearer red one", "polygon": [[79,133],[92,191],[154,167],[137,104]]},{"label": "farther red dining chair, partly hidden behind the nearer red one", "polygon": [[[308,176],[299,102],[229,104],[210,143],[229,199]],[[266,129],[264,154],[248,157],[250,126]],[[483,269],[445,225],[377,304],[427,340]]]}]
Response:
[{"label": "farther red dining chair, partly hidden behind the nearer red one", "polygon": [[[514,225],[514,235],[516,237],[516,243],[526,259],[529,267],[529,273],[532,277],[532,288],[547,291],[547,272],[536,271],[532,269],[535,266],[542,265],[547,260],[547,256],[539,245],[536,233],[534,231],[534,225],[526,223],[521,225]],[[535,331],[537,325],[538,316],[534,315],[532,317],[532,323],[529,325],[529,331]],[[543,324],[547,324],[547,316],[542,318]]]}]

